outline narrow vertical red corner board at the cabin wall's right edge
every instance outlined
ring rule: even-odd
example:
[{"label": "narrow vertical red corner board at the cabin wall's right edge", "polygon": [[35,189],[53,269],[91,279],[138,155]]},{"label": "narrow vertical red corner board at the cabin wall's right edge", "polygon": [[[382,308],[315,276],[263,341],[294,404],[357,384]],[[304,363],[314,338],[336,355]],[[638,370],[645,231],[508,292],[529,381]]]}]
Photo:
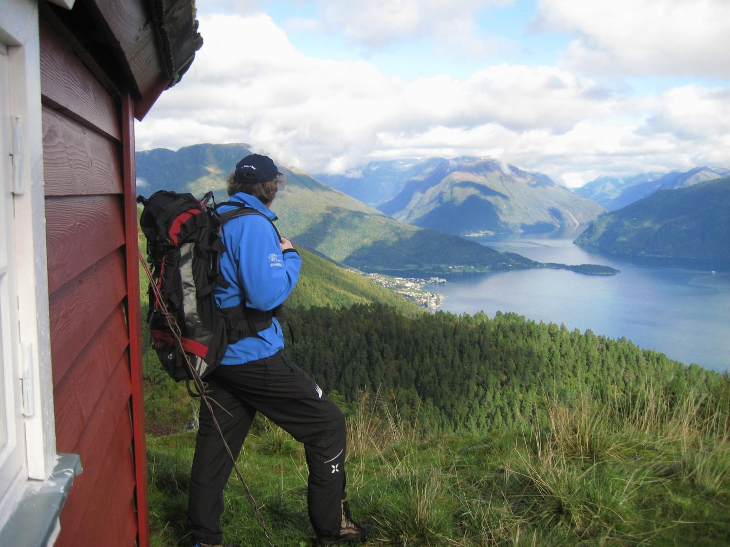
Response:
[{"label": "narrow vertical red corner board at the cabin wall's right edge", "polygon": [[129,365],[132,382],[131,415],[137,478],[139,547],[150,545],[150,511],[147,503],[147,443],[145,391],[142,378],[142,312],[139,309],[139,250],[137,175],[134,163],[134,102],[122,98],[122,163],[124,168],[124,220],[126,229],[127,308],[129,311]]}]

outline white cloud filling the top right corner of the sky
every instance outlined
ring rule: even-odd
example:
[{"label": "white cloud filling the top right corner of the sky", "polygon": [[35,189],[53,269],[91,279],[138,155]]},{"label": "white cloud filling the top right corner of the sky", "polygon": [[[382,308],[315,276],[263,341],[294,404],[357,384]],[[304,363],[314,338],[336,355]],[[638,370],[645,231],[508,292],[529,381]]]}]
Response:
[{"label": "white cloud filling the top right corner of the sky", "polygon": [[728,0],[539,0],[537,27],[577,35],[572,69],[730,78]]}]

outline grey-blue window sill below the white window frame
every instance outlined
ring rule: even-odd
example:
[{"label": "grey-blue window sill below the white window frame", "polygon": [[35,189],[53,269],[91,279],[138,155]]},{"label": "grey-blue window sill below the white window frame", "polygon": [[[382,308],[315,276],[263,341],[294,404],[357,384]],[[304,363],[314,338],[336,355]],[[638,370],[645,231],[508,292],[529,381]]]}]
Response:
[{"label": "grey-blue window sill below the white window frame", "polygon": [[61,531],[58,522],[61,509],[69,496],[74,477],[81,473],[78,454],[58,454],[50,477],[45,481],[27,482],[18,505],[0,529],[0,545],[53,545]]}]

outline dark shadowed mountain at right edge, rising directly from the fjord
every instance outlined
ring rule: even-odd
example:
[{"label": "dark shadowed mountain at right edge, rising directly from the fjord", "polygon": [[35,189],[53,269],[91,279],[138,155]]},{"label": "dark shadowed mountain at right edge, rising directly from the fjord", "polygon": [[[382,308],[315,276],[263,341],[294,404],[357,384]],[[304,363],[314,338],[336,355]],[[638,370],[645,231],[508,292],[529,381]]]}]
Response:
[{"label": "dark shadowed mountain at right edge, rising directly from the fjord", "polygon": [[575,243],[613,255],[730,261],[730,178],[658,190],[603,214]]}]

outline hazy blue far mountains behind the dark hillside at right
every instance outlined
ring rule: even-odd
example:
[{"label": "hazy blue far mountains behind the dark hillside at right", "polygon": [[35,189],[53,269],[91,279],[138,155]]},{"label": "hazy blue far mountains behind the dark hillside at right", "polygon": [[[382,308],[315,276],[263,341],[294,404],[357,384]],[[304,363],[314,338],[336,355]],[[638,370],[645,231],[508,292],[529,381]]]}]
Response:
[{"label": "hazy blue far mountains behind the dark hillside at right", "polygon": [[690,171],[680,173],[643,173],[626,179],[601,176],[583,187],[575,189],[575,193],[584,198],[592,199],[607,211],[615,211],[647,198],[658,190],[674,190],[696,185],[699,182],[719,179],[730,176],[730,168],[726,167],[696,167]]}]

